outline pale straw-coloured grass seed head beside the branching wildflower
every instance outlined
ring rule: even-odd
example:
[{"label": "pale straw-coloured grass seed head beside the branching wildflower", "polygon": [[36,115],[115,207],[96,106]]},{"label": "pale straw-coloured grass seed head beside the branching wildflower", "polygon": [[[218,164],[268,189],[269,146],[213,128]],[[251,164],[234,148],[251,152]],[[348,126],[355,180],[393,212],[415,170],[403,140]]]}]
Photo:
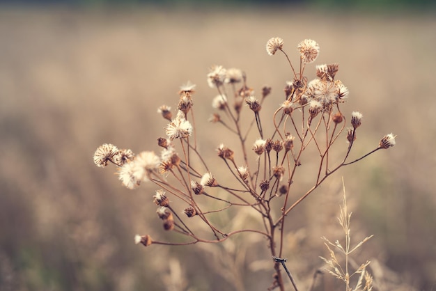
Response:
[{"label": "pale straw-coloured grass seed head beside the branching wildflower", "polygon": [[[320,258],[327,264],[327,272],[345,283],[345,291],[371,291],[373,290],[373,277],[366,271],[366,267],[368,267],[370,261],[367,260],[366,262],[362,263],[359,265],[359,267],[357,267],[357,269],[355,269],[354,272],[350,274],[350,255],[359,249],[362,244],[367,242],[368,239],[371,239],[373,235],[365,237],[355,246],[351,246],[351,212],[348,212],[347,209],[345,186],[343,187],[343,204],[340,208],[341,212],[339,213],[338,221],[341,225],[343,233],[345,234],[345,244],[341,244],[341,242],[338,240],[333,243],[330,242],[326,237],[322,237],[322,239],[325,241],[325,246],[327,246],[327,249],[329,250],[330,258]],[[334,250],[343,256],[345,260],[343,265],[341,264],[341,259],[338,258],[338,255],[336,255]],[[359,275],[359,278],[356,281],[355,288],[351,288],[351,278],[355,275]],[[362,285],[364,281],[365,284]]]}]

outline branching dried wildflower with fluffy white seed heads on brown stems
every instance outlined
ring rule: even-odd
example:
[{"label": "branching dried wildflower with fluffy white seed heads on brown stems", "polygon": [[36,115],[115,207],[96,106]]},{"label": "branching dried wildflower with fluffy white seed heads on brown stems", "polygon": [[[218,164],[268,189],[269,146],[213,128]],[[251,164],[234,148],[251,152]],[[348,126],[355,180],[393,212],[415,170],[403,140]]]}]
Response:
[{"label": "branching dried wildflower with fluffy white seed heads on brown stems", "polygon": [[[363,116],[357,111],[352,112],[348,125],[348,118],[341,111],[341,104],[349,91],[336,79],[338,65],[317,65],[316,77],[309,81],[304,69],[316,61],[320,52],[318,43],[309,39],[299,42],[298,70],[283,47],[281,38],[271,38],[266,45],[267,54],[271,56],[283,53],[292,72],[292,79],[283,88],[284,101],[272,118],[262,116],[263,104],[271,95],[272,88],[264,86],[256,94],[247,84],[247,76],[242,70],[226,69],[221,65],[210,68],[206,80],[216,91],[215,97],[211,98],[215,112],[210,122],[212,126],[221,125],[227,129],[229,138],[239,141],[238,148],[229,148],[224,142],[215,150],[198,150],[196,136],[199,133],[196,132],[192,98],[196,86],[188,82],[180,87],[175,111],[166,105],[157,110],[167,122],[165,136],[157,139],[158,153],[143,151],[134,155],[131,150],[118,150],[107,143],[95,151],[95,165],[114,164],[125,187],[135,189],[141,182],[153,182],[159,188],[153,202],[158,207],[157,217],[162,220],[164,230],[188,239],[187,242],[162,242],[151,239],[150,235],[137,235],[137,244],[217,243],[236,233],[249,232],[264,236],[271,255],[280,258],[286,235],[283,232],[286,216],[294,207],[339,168],[395,145],[395,136],[387,134],[366,155],[350,159]],[[277,100],[282,98],[275,95],[270,102],[277,104]],[[258,139],[249,139],[249,132],[253,131]],[[340,142],[336,146],[336,141],[344,140],[348,144]],[[309,155],[304,155],[306,151]],[[333,160],[332,157],[338,155],[329,155],[332,151],[341,153],[341,159]],[[217,161],[208,165],[203,155],[216,155],[221,163]],[[313,157],[319,157],[313,184],[306,193],[296,196],[290,191],[295,182],[299,182],[294,180],[295,173],[305,162],[313,162]],[[201,205],[198,203],[200,196]],[[213,203],[205,204],[205,199]],[[279,201],[281,207],[272,207],[273,200]],[[262,222],[259,228],[222,229],[210,221],[209,214],[230,207],[247,207],[258,214],[258,220]],[[180,209],[184,209],[182,213]],[[193,223],[196,227],[203,226],[209,235],[204,235],[204,231],[201,232],[203,235],[198,235],[193,231]],[[284,290],[281,262],[283,260],[272,262],[275,275],[271,290]]]}]

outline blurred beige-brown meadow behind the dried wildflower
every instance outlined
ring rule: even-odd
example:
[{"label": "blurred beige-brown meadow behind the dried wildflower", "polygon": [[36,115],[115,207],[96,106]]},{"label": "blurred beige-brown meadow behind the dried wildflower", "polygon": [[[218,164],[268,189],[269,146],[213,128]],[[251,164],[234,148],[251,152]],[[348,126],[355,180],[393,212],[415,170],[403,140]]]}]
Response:
[{"label": "blurred beige-brown meadow behind the dried wildflower", "polygon": [[[0,290],[266,290],[272,269],[261,238],[134,245],[135,233],[171,239],[155,215],[155,187],[125,189],[114,167],[97,168],[92,155],[102,143],[157,150],[165,126],[157,107],[175,108],[179,86],[190,80],[201,150],[213,162],[219,143],[231,141],[206,123],[216,95],[208,68],[240,68],[256,92],[272,86],[262,111],[269,120],[292,78],[283,56],[265,52],[273,36],[295,63],[304,38],[320,44],[316,64],[339,63],[337,78],[350,90],[343,113],[364,114],[356,157],[385,134],[398,135],[394,148],[345,168],[290,213],[288,267],[298,282],[310,281],[323,266],[318,256],[328,256],[320,237],[341,237],[334,229],[343,177],[352,235],[375,235],[356,259],[371,260],[375,276],[395,290],[432,290],[435,31],[430,15],[293,6],[1,8]],[[309,79],[314,71],[306,70]]]}]

